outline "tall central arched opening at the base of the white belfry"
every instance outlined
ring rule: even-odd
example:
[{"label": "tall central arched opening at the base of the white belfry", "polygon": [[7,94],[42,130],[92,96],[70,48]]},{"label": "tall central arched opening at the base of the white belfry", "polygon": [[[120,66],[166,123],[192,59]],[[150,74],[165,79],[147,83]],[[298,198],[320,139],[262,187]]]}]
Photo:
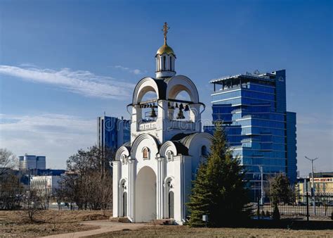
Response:
[{"label": "tall central arched opening at the base of the white belfry", "polygon": [[141,168],[136,176],[136,223],[156,219],[156,175],[152,168]]}]

